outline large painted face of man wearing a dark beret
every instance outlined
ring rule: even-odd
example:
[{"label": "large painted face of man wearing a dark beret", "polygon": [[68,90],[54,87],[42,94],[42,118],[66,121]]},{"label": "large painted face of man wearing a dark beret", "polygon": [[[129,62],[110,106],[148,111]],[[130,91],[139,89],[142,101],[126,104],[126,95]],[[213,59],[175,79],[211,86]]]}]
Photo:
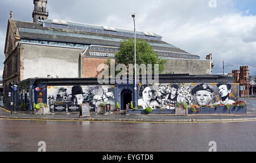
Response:
[{"label": "large painted face of man wearing a dark beret", "polygon": [[213,88],[206,83],[199,84],[192,89],[191,94],[195,96],[197,104],[209,105],[213,98]]}]

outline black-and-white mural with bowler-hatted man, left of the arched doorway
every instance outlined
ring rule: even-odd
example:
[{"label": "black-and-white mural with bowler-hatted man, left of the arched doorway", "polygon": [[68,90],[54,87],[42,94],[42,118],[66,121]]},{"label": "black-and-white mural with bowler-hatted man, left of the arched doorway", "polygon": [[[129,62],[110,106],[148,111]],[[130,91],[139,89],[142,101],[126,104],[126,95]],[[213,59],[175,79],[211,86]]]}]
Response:
[{"label": "black-and-white mural with bowler-hatted man, left of the arched doorway", "polygon": [[48,86],[47,87],[47,104],[68,104],[80,105],[89,103],[90,105],[100,105],[107,102],[114,105],[114,87],[112,86]]}]

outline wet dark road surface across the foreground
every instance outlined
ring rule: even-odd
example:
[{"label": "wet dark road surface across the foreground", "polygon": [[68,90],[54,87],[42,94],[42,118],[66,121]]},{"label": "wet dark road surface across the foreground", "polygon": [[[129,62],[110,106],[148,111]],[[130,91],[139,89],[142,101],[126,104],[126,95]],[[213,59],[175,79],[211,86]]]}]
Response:
[{"label": "wet dark road surface across the foreground", "polygon": [[0,151],[256,151],[256,122],[120,123],[0,119]]}]

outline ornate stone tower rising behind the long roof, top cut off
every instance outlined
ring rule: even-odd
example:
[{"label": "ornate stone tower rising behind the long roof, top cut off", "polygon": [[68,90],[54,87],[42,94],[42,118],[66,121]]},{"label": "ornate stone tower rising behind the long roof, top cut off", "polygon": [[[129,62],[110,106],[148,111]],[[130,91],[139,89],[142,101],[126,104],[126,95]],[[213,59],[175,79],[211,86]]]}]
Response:
[{"label": "ornate stone tower rising behind the long roof, top cut off", "polygon": [[48,11],[46,10],[47,0],[34,0],[34,11],[32,14],[34,23],[42,23],[48,19]]}]

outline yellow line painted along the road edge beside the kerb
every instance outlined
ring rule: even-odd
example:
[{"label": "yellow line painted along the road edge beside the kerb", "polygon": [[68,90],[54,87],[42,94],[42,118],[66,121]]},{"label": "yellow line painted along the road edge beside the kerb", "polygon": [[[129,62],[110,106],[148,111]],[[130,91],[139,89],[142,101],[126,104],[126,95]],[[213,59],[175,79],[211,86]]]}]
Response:
[{"label": "yellow line painted along the road edge beside the kerb", "polygon": [[55,121],[55,122],[115,122],[115,123],[230,123],[230,122],[253,122],[256,120],[241,120],[241,121],[209,121],[209,122],[143,122],[143,121],[93,121],[93,120],[57,120],[57,119],[11,119],[0,118],[0,120],[14,120],[14,121]]}]

